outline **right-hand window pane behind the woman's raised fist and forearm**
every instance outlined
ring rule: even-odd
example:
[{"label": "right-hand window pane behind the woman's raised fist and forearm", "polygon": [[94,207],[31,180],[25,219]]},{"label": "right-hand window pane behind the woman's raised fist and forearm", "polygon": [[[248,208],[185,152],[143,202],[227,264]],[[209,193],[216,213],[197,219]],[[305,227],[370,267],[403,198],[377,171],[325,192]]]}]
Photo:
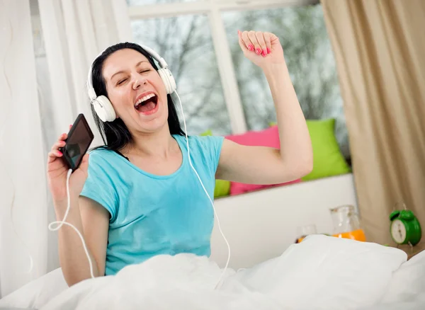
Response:
[{"label": "right-hand window pane behind the woman's raised fist and forearm", "polygon": [[227,40],[249,130],[276,122],[276,112],[261,69],[240,52],[238,29],[267,30],[278,36],[298,101],[306,119],[335,117],[336,136],[348,156],[348,141],[336,64],[324,24],[322,6],[286,6],[256,11],[222,13]]}]

